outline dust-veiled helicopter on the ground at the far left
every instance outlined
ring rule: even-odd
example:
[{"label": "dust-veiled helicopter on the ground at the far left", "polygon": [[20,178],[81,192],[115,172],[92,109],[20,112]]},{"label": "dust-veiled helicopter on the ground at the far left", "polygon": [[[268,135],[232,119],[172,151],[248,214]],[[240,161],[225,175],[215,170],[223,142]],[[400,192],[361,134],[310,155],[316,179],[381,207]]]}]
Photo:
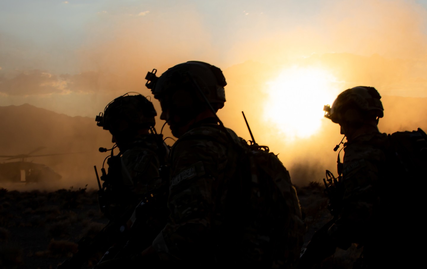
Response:
[{"label": "dust-veiled helicopter on the ground at the far left", "polygon": [[33,183],[40,181],[58,181],[62,176],[56,173],[52,168],[44,164],[36,164],[32,161],[26,161],[29,157],[42,157],[53,155],[64,155],[70,153],[33,155],[45,147],[38,147],[27,154],[18,155],[0,155],[0,158],[7,158],[4,161],[20,159],[20,161],[11,161],[0,163],[0,182],[19,182]]}]

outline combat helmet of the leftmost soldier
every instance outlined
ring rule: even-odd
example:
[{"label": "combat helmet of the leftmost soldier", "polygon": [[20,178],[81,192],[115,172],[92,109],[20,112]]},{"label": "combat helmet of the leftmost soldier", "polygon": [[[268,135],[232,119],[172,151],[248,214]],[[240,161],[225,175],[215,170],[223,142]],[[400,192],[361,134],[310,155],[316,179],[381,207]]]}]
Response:
[{"label": "combat helmet of the leftmost soldier", "polygon": [[111,133],[117,133],[151,129],[155,126],[155,116],[157,112],[146,97],[126,93],[108,103],[104,113],[99,113],[95,120],[97,126]]}]

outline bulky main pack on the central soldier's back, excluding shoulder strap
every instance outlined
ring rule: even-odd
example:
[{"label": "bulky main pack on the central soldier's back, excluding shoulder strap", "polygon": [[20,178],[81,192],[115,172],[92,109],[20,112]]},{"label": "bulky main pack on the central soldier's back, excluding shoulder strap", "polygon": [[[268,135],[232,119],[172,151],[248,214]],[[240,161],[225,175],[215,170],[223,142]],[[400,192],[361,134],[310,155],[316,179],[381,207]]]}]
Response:
[{"label": "bulky main pack on the central soldier's back, excluding shoulder strap", "polygon": [[305,225],[289,172],[267,146],[240,138],[237,149],[239,181],[230,183],[227,196],[228,204],[237,204],[240,210],[234,218],[240,218],[237,223],[243,226],[239,246],[243,257],[257,257],[263,268],[295,268]]}]

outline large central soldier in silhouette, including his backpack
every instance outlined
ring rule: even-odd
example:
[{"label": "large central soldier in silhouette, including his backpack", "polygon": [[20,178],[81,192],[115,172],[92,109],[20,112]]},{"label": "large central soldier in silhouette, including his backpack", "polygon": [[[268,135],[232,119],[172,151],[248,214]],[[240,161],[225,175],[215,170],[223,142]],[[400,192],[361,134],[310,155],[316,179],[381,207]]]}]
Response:
[{"label": "large central soldier in silhouette, including his backpack", "polygon": [[[154,267],[294,267],[302,236],[295,188],[268,147],[249,146],[216,117],[225,102],[222,71],[188,61],[147,79],[178,140],[170,156],[170,219],[140,264],[155,257]],[[261,158],[275,171],[262,170]]]}]

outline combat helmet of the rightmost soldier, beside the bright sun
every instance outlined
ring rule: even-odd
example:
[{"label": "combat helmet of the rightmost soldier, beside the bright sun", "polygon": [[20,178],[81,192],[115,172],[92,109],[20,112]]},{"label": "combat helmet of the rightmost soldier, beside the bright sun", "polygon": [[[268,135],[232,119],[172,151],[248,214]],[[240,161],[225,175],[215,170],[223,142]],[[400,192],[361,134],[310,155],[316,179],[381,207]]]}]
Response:
[{"label": "combat helmet of the rightmost soldier, beside the bright sun", "polygon": [[356,108],[378,119],[384,116],[380,99],[381,96],[374,87],[357,86],[343,91],[333,101],[332,107],[325,105],[323,110],[325,117],[333,123],[339,123],[339,119],[348,108]]}]

